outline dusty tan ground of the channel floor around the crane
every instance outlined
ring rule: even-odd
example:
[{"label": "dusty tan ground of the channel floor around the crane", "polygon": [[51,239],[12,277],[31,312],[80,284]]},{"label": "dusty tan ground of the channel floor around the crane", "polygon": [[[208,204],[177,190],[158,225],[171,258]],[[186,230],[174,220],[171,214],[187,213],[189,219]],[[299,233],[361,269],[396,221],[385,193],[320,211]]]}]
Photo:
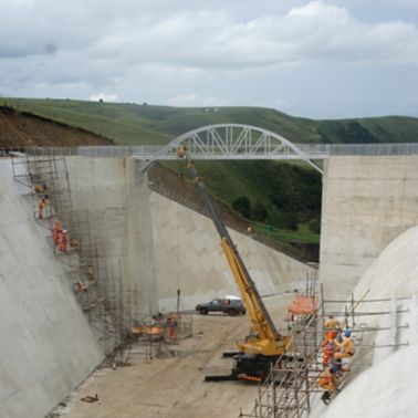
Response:
[{"label": "dusty tan ground of the channel floor around the crane", "polygon": [[[265,304],[280,328],[293,295],[268,297]],[[237,418],[240,407],[252,408],[257,385],[241,382],[205,383],[205,375],[229,374],[234,342],[247,335],[249,317],[194,315],[194,336],[167,346],[168,355],[149,358],[149,349],[134,345],[123,367],[96,370],[61,406],[67,418]],[[85,403],[86,396],[98,401]]]}]

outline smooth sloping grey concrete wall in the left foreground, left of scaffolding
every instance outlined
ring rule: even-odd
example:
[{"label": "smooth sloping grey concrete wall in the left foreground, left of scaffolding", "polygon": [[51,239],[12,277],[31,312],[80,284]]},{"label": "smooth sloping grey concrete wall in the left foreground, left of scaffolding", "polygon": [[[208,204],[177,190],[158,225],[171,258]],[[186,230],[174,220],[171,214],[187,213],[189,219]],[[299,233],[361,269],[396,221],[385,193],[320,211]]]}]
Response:
[{"label": "smooth sloping grey concrete wall in the left foreground, left of scaffolding", "polygon": [[0,159],[2,418],[43,417],[103,359],[27,194]]}]

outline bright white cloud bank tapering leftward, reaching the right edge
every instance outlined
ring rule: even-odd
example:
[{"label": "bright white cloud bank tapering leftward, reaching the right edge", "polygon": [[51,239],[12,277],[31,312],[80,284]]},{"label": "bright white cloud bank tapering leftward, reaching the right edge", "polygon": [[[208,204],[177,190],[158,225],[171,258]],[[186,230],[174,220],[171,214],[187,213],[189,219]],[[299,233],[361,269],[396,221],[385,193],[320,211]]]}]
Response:
[{"label": "bright white cloud bank tapering leftward, reaching the right edge", "polygon": [[126,31],[119,25],[109,30],[93,45],[93,54],[134,64],[237,69],[330,60],[418,62],[414,24],[362,22],[324,1],[245,22],[222,10],[182,11],[158,21],[142,18]]}]

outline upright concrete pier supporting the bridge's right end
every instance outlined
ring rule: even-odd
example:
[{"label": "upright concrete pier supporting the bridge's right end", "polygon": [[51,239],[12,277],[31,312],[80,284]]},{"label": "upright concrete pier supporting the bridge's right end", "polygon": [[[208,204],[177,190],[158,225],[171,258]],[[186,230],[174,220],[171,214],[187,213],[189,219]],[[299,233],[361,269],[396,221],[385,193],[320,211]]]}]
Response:
[{"label": "upright concrete pier supporting the bridge's right end", "polygon": [[348,294],[383,249],[418,223],[418,157],[330,157],[323,176],[321,281]]}]

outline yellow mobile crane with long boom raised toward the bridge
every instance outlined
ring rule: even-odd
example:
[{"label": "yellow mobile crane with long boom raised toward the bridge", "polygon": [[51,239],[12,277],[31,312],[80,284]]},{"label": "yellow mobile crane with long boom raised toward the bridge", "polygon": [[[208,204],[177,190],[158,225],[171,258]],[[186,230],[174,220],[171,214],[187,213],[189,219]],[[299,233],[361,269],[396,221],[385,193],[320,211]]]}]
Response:
[{"label": "yellow mobile crane with long boom raised toward the bridge", "polygon": [[194,182],[201,200],[203,201],[215,227],[221,238],[221,247],[227,257],[232,275],[240,290],[243,304],[251,320],[250,335],[244,341],[238,343],[237,353],[224,353],[226,356],[233,356],[234,365],[228,376],[206,376],[205,380],[254,380],[265,379],[271,365],[290,349],[290,337],[280,335],[272,318],[270,317],[263,301],[248,272],[236,244],[232,242],[227,228],[218,215],[212,200],[207,191],[206,185],[199,177],[195,164],[191,161],[186,146],[179,146],[177,155],[186,158],[188,169],[194,178]]}]

